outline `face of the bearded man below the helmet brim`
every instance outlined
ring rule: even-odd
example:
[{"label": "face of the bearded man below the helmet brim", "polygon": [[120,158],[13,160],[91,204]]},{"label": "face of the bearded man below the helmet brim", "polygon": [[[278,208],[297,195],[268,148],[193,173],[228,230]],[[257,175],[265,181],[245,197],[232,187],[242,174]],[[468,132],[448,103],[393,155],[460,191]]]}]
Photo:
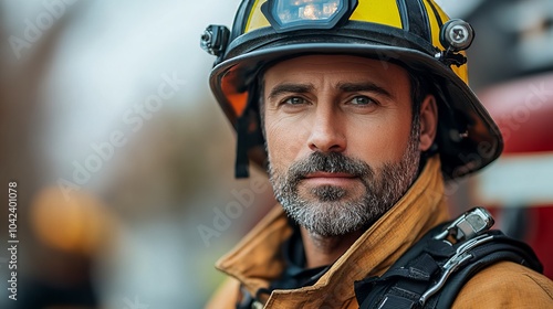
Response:
[{"label": "face of the bearded man below the helmet brim", "polygon": [[346,55],[283,61],[264,74],[270,179],[311,233],[368,227],[407,191],[419,163],[410,82],[400,66]]}]

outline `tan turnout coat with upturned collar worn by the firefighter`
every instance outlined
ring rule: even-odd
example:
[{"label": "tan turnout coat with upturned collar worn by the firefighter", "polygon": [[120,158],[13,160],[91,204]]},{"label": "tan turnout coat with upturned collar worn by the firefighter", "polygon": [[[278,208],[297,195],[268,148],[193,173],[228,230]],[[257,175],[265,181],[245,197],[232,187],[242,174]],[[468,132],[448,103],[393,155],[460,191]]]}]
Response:
[{"label": "tan turnout coat with upturned collar worn by the firefighter", "polygon": [[[358,308],[354,281],[384,274],[428,230],[449,220],[438,158],[397,204],[366,231],[313,286],[274,290],[264,308]],[[240,283],[255,295],[284,265],[281,244],[292,230],[276,205],[217,268],[229,278],[207,308],[236,308]],[[503,262],[477,274],[458,295],[453,308],[553,308],[553,283],[521,265]]]}]

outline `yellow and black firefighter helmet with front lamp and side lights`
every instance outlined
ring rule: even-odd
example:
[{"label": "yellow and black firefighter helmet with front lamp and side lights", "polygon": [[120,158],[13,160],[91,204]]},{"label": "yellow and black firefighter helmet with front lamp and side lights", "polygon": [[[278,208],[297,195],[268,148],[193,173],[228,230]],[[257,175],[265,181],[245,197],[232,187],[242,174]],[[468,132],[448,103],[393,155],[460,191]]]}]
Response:
[{"label": "yellow and black firefighter helmet with front lamp and side lights", "polygon": [[449,19],[432,0],[243,0],[232,31],[209,25],[201,46],[217,56],[210,87],[238,132],[237,177],[248,158],[267,154],[259,118],[258,74],[304,54],[349,54],[403,65],[428,76],[438,99],[436,145],[442,172],[458,178],[499,157],[501,134],[468,86],[473,39],[467,22]]}]

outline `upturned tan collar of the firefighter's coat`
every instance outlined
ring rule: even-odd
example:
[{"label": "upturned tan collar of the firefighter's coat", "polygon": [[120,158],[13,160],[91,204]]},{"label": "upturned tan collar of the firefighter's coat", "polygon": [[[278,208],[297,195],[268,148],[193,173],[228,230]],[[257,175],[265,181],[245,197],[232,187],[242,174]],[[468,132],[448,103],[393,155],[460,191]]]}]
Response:
[{"label": "upturned tan collar of the firefighter's coat", "polygon": [[[267,307],[341,308],[355,299],[353,283],[384,274],[428,230],[449,219],[438,157],[428,160],[407,193],[342,255],[319,281],[293,290],[275,290]],[[216,267],[251,292],[267,288],[284,267],[281,244],[292,228],[276,205]]]}]

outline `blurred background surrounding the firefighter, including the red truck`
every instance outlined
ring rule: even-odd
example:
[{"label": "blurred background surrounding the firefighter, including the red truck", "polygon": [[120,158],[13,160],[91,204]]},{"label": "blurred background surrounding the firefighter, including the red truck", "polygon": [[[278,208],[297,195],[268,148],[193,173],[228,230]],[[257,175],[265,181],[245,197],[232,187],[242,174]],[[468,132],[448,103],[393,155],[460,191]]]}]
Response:
[{"label": "blurred background surrounding the firefighter, including the red truck", "polygon": [[[492,207],[553,277],[553,2],[441,0],[472,23],[471,85],[505,154],[448,185]],[[0,207],[0,308],[201,308],[213,263],[272,206],[233,179],[234,135],[208,88],[208,24],[239,1],[0,1],[0,199],[17,182],[17,301]]]}]

